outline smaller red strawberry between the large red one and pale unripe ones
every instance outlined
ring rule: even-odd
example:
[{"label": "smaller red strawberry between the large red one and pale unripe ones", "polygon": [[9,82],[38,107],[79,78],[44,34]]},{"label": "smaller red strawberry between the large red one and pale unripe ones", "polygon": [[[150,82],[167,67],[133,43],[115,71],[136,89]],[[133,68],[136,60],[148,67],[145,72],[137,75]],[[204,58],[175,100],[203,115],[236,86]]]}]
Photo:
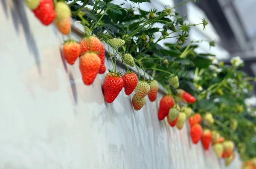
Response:
[{"label": "smaller red strawberry between the large red one and pale unripe ones", "polygon": [[138,77],[135,73],[125,73],[122,76],[122,79],[124,80],[124,88],[125,88],[125,94],[130,95],[138,83]]}]

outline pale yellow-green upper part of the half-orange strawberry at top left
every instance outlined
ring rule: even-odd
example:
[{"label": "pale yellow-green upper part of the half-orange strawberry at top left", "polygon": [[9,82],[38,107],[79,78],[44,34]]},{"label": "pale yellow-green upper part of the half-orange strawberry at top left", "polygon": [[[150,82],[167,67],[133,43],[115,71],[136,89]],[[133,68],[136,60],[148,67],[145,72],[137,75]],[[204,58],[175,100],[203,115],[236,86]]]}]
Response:
[{"label": "pale yellow-green upper part of the half-orange strawberry at top left", "polygon": [[67,5],[67,3],[57,2],[55,4],[55,14],[55,20],[65,20],[71,16],[70,7]]}]

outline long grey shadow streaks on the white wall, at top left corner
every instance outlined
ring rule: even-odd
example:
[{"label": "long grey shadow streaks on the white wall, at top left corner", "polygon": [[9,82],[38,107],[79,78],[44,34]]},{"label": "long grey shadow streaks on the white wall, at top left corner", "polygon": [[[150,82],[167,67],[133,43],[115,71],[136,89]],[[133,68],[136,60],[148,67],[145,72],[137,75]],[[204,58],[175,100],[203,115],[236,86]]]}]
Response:
[{"label": "long grey shadow streaks on the white wall, at top left corner", "polygon": [[[6,13],[6,16],[8,17],[8,11],[7,11],[7,4],[6,0],[1,0],[4,11]],[[39,52],[38,52],[38,47],[35,42],[35,38],[31,34],[30,28],[29,28],[29,21],[26,15],[25,11],[25,4],[23,0],[12,0],[12,8],[11,8],[11,13],[12,13],[12,21],[15,26],[15,30],[17,35],[19,34],[19,25],[22,25],[23,31],[25,33],[25,38],[26,38],[26,45],[29,51],[32,52],[34,59],[35,59],[35,64],[37,65],[38,68],[38,73],[41,73],[41,65],[40,65],[40,58],[39,58]]]}]

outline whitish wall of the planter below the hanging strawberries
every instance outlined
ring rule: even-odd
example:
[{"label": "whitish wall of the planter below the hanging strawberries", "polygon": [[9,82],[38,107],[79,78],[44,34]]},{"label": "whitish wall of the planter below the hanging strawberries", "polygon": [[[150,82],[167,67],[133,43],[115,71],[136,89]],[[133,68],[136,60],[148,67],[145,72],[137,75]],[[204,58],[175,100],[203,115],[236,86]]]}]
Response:
[{"label": "whitish wall of the planter below the hanging strawberries", "polygon": [[[0,6],[0,169],[224,168],[212,149],[192,144],[187,125],[158,121],[161,94],[140,111],[123,90],[106,103],[104,75],[85,86],[79,62],[61,56],[66,37],[54,25],[43,26],[22,0]],[[236,157],[229,168],[240,164]]]}]

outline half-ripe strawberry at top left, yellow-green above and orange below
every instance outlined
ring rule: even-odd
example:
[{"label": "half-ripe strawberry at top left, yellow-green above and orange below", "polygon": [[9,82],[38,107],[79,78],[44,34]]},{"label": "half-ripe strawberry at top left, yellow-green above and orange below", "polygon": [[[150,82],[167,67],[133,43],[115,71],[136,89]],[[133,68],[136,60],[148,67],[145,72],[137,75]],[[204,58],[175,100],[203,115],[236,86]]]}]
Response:
[{"label": "half-ripe strawberry at top left, yellow-green above and orange below", "polygon": [[61,32],[61,34],[67,35],[70,33],[70,7],[64,2],[57,2],[55,4],[55,20],[54,24]]}]

